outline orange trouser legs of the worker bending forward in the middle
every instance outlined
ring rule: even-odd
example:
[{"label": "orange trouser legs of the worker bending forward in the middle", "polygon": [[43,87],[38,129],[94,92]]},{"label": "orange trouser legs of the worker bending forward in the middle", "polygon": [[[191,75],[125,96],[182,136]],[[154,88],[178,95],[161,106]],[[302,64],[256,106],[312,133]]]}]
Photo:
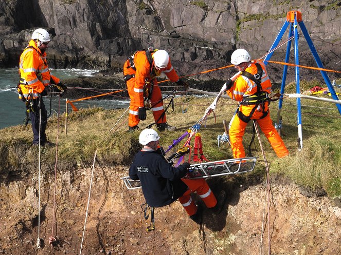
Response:
[{"label": "orange trouser legs of the worker bending forward in the middle", "polygon": [[[139,102],[135,102],[134,93],[134,85],[135,85],[135,77],[132,77],[127,81],[127,87],[128,87],[128,94],[130,97],[130,106],[129,106],[129,123],[128,125],[130,127],[136,126],[140,119],[138,119],[138,107],[140,105]],[[151,89],[151,85],[149,84],[147,86],[149,93],[151,92],[152,95],[150,97],[150,102],[152,105],[152,111],[155,122],[157,123],[164,123],[166,122],[166,114],[164,114],[164,102],[162,100],[162,94],[160,87],[157,85],[157,81],[154,80],[153,88]],[[163,115],[163,117],[160,117]],[[159,119],[160,118],[160,119]]]}]

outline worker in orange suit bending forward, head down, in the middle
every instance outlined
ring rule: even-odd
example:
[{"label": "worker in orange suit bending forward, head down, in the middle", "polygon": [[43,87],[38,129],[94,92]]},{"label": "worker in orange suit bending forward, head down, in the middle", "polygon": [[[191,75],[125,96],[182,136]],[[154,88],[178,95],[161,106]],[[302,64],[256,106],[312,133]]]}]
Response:
[{"label": "worker in orange suit bending forward, head down, in the middle", "polygon": [[[159,131],[174,131],[176,127],[167,124],[161,90],[156,77],[164,72],[171,82],[179,86],[188,86],[179,79],[173,68],[168,52],[165,50],[137,51],[124,63],[124,81],[130,96],[129,130],[138,128],[137,124],[147,118],[146,106],[151,107],[156,127]],[[145,105],[145,101],[148,102]]]}]

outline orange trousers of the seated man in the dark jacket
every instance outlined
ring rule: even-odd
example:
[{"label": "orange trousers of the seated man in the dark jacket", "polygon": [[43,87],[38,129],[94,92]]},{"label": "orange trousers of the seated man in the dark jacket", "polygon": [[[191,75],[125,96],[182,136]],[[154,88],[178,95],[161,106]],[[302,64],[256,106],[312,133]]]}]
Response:
[{"label": "orange trousers of the seated man in the dark jacket", "polygon": [[188,190],[179,198],[180,203],[185,208],[188,215],[195,214],[197,207],[192,200],[191,193],[196,192],[204,201],[206,207],[212,208],[216,206],[217,199],[212,190],[209,188],[205,179],[181,179],[187,186]]}]

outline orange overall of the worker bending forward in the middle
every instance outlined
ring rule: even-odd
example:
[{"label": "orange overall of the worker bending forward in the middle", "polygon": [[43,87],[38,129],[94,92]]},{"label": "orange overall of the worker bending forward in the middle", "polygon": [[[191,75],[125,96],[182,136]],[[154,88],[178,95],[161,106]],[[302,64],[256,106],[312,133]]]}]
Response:
[{"label": "orange overall of the worker bending forward in the middle", "polygon": [[[156,50],[155,50],[156,51]],[[155,52],[154,51],[154,52]],[[151,52],[153,56],[154,52]],[[156,76],[161,72],[165,72],[171,82],[178,81],[179,77],[175,72],[170,60],[166,68],[158,71],[154,68],[154,64],[148,61],[146,51],[137,51],[132,58],[129,58],[123,66],[124,76],[129,75],[127,82],[128,93],[130,96],[129,107],[129,126],[136,126],[140,120],[138,118],[138,108],[145,106],[145,100],[150,99],[151,109],[153,111],[154,120],[156,123],[165,123],[166,114],[164,103],[161,95],[161,90],[157,85]],[[130,60],[133,59],[133,67]],[[148,93],[146,91],[148,90]],[[145,93],[143,93],[145,92]],[[151,94],[150,94],[151,93]]]}]

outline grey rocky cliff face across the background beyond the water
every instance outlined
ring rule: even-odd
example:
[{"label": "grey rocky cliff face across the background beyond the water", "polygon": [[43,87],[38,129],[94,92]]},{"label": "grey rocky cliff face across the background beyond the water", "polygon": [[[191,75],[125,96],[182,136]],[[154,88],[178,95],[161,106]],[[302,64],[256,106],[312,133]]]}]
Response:
[{"label": "grey rocky cliff face across the background beyond the water", "polygon": [[[148,46],[168,50],[182,72],[203,63],[222,66],[236,48],[248,49],[254,58],[266,53],[291,10],[302,12],[328,67],[341,53],[340,5],[335,0],[5,0],[0,3],[0,67],[17,65],[37,27],[52,34],[51,67],[121,67],[128,55]],[[302,35],[299,44],[304,62],[309,48]],[[283,60],[285,50],[276,50],[274,57]]]}]

